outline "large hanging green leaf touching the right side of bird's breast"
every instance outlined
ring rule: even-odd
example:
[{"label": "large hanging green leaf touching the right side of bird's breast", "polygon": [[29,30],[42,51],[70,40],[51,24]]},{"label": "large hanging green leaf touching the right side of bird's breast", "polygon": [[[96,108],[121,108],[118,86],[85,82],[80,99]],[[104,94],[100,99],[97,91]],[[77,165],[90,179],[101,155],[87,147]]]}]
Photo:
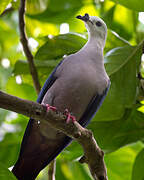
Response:
[{"label": "large hanging green leaf touching the right side of bird's breast", "polygon": [[105,67],[111,87],[102,107],[96,114],[97,121],[117,120],[125,108],[131,108],[136,98],[136,72],[141,59],[141,46],[112,49],[105,56]]}]

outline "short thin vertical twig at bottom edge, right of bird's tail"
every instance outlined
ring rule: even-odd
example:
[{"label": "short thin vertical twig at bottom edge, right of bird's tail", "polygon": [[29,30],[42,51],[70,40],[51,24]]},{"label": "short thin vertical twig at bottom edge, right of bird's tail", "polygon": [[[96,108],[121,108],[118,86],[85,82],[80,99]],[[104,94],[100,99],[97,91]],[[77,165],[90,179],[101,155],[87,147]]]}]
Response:
[{"label": "short thin vertical twig at bottom edge, right of bird's tail", "polygon": [[56,159],[49,164],[48,180],[55,180]]}]

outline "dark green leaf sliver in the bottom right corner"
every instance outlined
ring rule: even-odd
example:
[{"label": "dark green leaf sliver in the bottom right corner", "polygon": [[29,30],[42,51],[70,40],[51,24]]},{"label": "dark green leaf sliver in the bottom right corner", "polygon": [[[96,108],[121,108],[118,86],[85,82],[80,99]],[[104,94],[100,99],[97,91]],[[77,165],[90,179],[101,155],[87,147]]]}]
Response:
[{"label": "dark green leaf sliver in the bottom right corner", "polygon": [[132,171],[132,180],[144,180],[144,149],[137,155]]}]

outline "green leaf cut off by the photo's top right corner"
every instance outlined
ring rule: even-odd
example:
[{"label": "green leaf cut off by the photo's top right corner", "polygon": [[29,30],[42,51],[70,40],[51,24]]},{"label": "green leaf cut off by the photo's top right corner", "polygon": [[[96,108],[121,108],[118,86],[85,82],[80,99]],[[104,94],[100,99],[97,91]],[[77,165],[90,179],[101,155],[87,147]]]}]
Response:
[{"label": "green leaf cut off by the photo's top right corner", "polygon": [[137,0],[112,0],[115,3],[119,3],[129,9],[142,12],[144,11],[144,1],[137,1]]}]

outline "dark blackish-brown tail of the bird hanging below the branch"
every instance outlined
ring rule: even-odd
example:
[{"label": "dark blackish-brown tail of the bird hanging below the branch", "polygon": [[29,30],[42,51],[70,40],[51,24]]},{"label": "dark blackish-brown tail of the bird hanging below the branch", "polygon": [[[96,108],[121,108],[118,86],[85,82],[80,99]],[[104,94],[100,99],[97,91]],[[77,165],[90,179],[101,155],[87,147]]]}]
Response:
[{"label": "dark blackish-brown tail of the bird hanging below the branch", "polygon": [[34,180],[39,172],[71,142],[61,133],[62,138],[50,140],[39,134],[39,127],[30,119],[23,137],[19,159],[12,169],[18,180]]}]

